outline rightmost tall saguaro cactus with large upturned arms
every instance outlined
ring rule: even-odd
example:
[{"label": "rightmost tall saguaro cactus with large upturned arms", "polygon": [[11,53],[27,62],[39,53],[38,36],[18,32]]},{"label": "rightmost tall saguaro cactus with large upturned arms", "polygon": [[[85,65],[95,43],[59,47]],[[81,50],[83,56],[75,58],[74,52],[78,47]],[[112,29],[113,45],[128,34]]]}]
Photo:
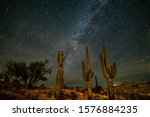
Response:
[{"label": "rightmost tall saguaro cactus with large upturned arms", "polygon": [[100,60],[101,60],[103,75],[107,80],[108,99],[115,99],[114,87],[113,87],[113,78],[116,76],[116,63],[109,65],[105,45],[103,45],[103,54],[100,54]]}]

